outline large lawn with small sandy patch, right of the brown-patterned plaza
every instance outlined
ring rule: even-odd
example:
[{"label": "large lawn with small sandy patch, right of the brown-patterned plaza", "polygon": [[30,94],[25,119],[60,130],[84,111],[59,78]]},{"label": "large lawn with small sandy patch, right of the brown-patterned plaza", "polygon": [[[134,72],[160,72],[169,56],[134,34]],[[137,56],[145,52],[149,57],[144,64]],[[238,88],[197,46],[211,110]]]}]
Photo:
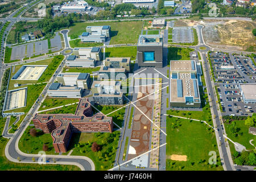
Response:
[{"label": "large lawn with small sandy patch, right of the brown-patterned plaza", "polygon": [[[197,121],[167,117],[166,169],[169,171],[223,170],[216,137],[207,126]],[[174,123],[174,125],[172,125]],[[217,153],[217,165],[210,165],[210,151]],[[171,160],[171,155],[187,155],[187,162]],[[216,167],[217,166],[217,167]]]}]

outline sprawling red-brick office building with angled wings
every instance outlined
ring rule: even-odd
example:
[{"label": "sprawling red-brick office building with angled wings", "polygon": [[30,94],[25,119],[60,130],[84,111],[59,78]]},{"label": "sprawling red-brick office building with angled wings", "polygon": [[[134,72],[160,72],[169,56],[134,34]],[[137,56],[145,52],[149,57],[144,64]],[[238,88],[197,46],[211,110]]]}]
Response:
[{"label": "sprawling red-brick office building with angled wings", "polygon": [[92,115],[88,98],[81,98],[75,114],[36,114],[32,121],[36,129],[51,133],[56,152],[67,152],[73,133],[113,131],[112,117]]}]

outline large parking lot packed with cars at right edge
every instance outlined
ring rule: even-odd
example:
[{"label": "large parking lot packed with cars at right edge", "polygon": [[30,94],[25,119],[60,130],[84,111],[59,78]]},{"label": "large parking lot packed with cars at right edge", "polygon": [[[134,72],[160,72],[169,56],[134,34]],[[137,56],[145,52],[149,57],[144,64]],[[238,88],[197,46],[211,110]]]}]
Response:
[{"label": "large parking lot packed with cars at right edge", "polygon": [[[255,104],[245,104],[243,102],[240,83],[253,83],[255,71],[253,61],[248,57],[240,56],[240,62],[237,56],[220,52],[210,53],[210,60],[215,77],[215,86],[218,86],[217,92],[220,96],[222,115],[251,115],[256,112]],[[245,60],[243,63],[242,61]],[[245,68],[246,65],[253,67]],[[240,64],[245,64],[243,67]],[[240,69],[241,68],[241,69]],[[245,69],[245,70],[244,70]],[[250,72],[249,72],[250,71]],[[247,72],[249,74],[247,75]]]}]

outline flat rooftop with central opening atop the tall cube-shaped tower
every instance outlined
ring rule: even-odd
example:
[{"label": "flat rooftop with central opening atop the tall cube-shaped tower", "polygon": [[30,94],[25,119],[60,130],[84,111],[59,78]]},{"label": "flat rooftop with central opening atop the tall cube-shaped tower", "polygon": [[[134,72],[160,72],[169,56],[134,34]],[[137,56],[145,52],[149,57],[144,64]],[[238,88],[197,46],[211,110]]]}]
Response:
[{"label": "flat rooftop with central opening atop the tall cube-shaped tower", "polygon": [[138,46],[162,46],[163,35],[139,35]]}]

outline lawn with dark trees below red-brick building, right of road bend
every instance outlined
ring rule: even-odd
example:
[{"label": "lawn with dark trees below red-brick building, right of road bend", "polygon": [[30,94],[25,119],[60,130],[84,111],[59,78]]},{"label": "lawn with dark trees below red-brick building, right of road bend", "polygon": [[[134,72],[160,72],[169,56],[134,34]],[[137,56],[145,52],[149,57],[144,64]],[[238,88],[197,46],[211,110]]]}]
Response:
[{"label": "lawn with dark trees below red-brick building, right of road bend", "polygon": [[[120,131],[113,133],[74,133],[68,150],[73,150],[72,155],[88,156],[93,160],[95,170],[108,170],[113,167],[117,153]],[[92,143],[96,142],[101,150],[93,152]]]}]

